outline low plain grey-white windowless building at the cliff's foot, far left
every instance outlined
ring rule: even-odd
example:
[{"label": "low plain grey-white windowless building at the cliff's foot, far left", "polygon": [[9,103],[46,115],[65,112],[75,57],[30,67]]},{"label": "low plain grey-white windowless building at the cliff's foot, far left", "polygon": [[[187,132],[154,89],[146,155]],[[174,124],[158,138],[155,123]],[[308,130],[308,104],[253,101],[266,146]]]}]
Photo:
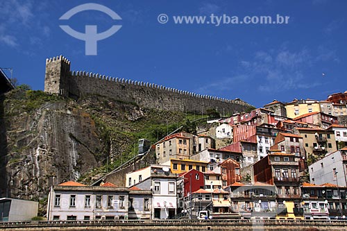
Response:
[{"label": "low plain grey-white windowless building at the cliff's foot, far left", "polygon": [[31,221],[38,207],[36,201],[0,198],[0,221]]}]

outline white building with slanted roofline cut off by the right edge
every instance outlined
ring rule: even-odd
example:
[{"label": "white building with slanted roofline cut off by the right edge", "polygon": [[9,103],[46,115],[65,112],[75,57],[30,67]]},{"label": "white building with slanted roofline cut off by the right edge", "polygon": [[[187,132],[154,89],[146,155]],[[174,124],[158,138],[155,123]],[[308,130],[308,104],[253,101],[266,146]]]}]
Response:
[{"label": "white building with slanted roofline cut off by the right edge", "polygon": [[311,164],[310,182],[315,185],[330,183],[347,186],[347,148],[325,155],[321,160]]}]

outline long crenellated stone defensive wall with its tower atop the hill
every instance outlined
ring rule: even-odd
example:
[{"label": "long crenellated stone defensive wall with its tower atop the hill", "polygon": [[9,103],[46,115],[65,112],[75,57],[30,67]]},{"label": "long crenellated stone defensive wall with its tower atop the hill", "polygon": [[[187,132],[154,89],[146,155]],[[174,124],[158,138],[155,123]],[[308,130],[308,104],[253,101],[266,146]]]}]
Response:
[{"label": "long crenellated stone defensive wall with its tower atop the hill", "polygon": [[[59,70],[60,68],[60,70]],[[215,96],[195,94],[153,83],[144,83],[124,78],[112,78],[86,71],[70,71],[70,62],[62,55],[46,60],[45,92],[57,90],[46,87],[49,78],[60,75],[60,94],[71,97],[82,97],[97,94],[121,101],[135,102],[142,108],[174,110],[181,112],[206,112],[217,109],[219,112],[242,112],[251,105],[240,100],[223,99]],[[55,81],[56,83],[57,81]],[[230,86],[230,89],[233,86]]]}]

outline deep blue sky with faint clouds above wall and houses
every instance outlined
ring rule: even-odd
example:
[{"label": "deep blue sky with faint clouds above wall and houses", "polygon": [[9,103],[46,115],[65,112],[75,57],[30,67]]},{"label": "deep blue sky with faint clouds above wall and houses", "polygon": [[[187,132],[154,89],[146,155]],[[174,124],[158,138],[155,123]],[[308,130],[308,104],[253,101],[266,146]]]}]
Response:
[{"label": "deep blue sky with faint clouds above wall and houses", "polygon": [[[273,99],[326,99],[347,90],[347,1],[94,1],[121,17],[71,8],[93,1],[0,3],[0,67],[33,89],[44,88],[46,58],[65,55],[72,70],[139,80],[261,107]],[[158,15],[169,16],[167,24]],[[289,24],[175,24],[173,16],[289,16]],[[85,42],[59,27],[121,29],[85,55]],[[325,76],[322,76],[325,73]]]}]

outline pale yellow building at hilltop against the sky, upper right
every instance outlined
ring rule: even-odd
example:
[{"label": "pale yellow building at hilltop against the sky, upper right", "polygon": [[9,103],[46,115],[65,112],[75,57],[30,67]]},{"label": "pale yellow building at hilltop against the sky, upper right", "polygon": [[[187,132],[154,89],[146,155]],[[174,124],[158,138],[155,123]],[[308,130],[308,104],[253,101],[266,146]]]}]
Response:
[{"label": "pale yellow building at hilltop against the sky, upper right", "polygon": [[285,105],[287,117],[294,119],[310,112],[321,112],[319,101],[314,99],[294,99]]}]

